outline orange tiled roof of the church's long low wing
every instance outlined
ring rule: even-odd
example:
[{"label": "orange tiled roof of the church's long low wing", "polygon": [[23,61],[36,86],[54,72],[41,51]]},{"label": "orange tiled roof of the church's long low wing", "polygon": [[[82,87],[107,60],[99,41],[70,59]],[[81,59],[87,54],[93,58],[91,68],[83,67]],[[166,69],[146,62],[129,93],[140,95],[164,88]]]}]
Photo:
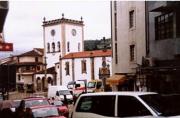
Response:
[{"label": "orange tiled roof of the church's long low wing", "polygon": [[104,57],[104,56],[111,56],[111,55],[112,55],[111,50],[94,50],[94,51],[69,53],[65,55],[62,59]]}]

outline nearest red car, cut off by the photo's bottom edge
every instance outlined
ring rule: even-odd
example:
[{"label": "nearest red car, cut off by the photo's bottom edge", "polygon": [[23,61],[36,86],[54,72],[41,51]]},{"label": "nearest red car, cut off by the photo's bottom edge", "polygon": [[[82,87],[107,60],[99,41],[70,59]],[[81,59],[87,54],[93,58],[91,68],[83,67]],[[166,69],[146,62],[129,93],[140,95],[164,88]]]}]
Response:
[{"label": "nearest red car, cut off by the photo's bottom edge", "polygon": [[52,105],[34,106],[31,109],[34,118],[66,118]]}]

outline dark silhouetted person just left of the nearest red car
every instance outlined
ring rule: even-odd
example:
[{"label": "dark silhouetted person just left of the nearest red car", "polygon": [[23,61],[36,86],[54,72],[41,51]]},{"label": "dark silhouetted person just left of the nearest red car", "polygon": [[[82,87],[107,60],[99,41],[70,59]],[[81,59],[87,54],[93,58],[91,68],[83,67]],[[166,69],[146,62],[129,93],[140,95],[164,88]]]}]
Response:
[{"label": "dark silhouetted person just left of the nearest red car", "polygon": [[16,109],[15,117],[25,118],[25,101],[24,100],[21,100],[19,107]]}]

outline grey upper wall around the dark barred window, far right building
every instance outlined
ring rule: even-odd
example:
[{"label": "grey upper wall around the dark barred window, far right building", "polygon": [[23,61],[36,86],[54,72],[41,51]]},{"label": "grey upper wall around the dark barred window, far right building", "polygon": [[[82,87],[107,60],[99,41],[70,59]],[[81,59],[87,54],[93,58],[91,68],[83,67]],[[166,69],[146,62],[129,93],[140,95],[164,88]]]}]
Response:
[{"label": "grey upper wall around the dark barred window, far right building", "polygon": [[[173,2],[171,2],[173,3]],[[167,1],[149,1],[148,12],[149,12],[149,41],[150,41],[150,57],[158,60],[172,60],[175,55],[179,53],[180,37],[176,35],[176,16],[179,12],[175,13],[173,19],[173,37],[169,39],[156,40],[155,37],[155,17],[165,14],[165,11],[152,11],[159,7],[167,7]],[[177,6],[176,6],[177,7]],[[175,9],[174,9],[175,11]],[[177,9],[178,11],[178,9]],[[178,21],[179,22],[179,21]]]}]

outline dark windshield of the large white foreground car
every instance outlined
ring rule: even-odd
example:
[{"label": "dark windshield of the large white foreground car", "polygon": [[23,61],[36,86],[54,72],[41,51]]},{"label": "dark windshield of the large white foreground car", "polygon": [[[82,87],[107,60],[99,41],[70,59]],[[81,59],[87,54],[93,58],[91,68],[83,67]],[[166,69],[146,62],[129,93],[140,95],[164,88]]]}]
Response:
[{"label": "dark windshield of the large white foreground car", "polygon": [[158,116],[180,115],[180,95],[141,95],[143,99]]}]

